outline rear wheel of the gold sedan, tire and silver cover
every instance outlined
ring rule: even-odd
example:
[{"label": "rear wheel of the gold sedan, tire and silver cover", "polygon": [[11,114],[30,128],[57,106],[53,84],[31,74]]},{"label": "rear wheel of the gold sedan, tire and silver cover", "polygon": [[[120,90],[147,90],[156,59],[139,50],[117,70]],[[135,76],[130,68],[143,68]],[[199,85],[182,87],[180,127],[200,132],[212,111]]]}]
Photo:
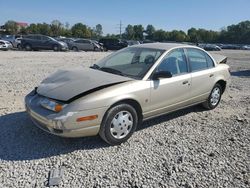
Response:
[{"label": "rear wheel of the gold sedan, tire and silver cover", "polygon": [[202,106],[208,110],[212,110],[218,106],[221,100],[222,88],[221,85],[216,83],[213,87],[208,99],[202,103]]}]

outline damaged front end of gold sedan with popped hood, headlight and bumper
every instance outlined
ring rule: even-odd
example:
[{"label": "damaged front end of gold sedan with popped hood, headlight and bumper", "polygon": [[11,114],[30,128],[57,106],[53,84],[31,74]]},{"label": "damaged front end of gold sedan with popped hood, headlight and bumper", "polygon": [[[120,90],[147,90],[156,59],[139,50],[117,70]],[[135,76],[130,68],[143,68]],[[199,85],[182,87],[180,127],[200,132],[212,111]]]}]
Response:
[{"label": "damaged front end of gold sedan with popped hood, headlight and bumper", "polygon": [[108,106],[96,100],[81,103],[102,89],[131,80],[94,69],[57,71],[25,97],[26,111],[32,121],[46,132],[80,137],[97,135]]}]

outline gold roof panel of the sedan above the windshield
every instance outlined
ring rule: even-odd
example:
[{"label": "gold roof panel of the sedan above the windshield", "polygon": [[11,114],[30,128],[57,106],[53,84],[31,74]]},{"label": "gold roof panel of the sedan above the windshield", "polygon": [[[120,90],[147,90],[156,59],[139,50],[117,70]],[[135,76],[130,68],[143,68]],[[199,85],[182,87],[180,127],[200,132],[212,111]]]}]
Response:
[{"label": "gold roof panel of the sedan above the windshield", "polygon": [[181,44],[181,43],[160,43],[160,42],[155,42],[155,43],[138,44],[138,45],[134,45],[133,47],[170,50],[171,48],[187,47],[187,46],[190,47],[191,45]]}]

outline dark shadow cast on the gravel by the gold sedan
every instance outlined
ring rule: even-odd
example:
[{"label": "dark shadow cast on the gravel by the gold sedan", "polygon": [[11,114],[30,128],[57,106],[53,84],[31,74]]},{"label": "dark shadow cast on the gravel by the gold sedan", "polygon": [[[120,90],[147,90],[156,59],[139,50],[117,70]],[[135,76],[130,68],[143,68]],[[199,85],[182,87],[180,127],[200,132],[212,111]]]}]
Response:
[{"label": "dark shadow cast on the gravel by the gold sedan", "polygon": [[[179,110],[144,121],[138,130],[186,115],[203,111],[199,106]],[[0,116],[0,159],[6,161],[34,160],[76,150],[91,150],[109,147],[99,136],[86,138],[62,138],[37,128],[26,112]]]}]

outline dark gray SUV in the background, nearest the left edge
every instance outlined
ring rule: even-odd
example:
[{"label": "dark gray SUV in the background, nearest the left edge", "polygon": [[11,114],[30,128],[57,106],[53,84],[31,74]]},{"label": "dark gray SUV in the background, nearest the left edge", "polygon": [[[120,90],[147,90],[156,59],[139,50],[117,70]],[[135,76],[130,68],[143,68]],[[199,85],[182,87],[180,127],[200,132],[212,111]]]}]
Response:
[{"label": "dark gray SUV in the background, nearest the left edge", "polygon": [[21,40],[21,48],[29,50],[54,50],[66,51],[68,45],[65,42],[57,41],[45,35],[27,35]]}]

